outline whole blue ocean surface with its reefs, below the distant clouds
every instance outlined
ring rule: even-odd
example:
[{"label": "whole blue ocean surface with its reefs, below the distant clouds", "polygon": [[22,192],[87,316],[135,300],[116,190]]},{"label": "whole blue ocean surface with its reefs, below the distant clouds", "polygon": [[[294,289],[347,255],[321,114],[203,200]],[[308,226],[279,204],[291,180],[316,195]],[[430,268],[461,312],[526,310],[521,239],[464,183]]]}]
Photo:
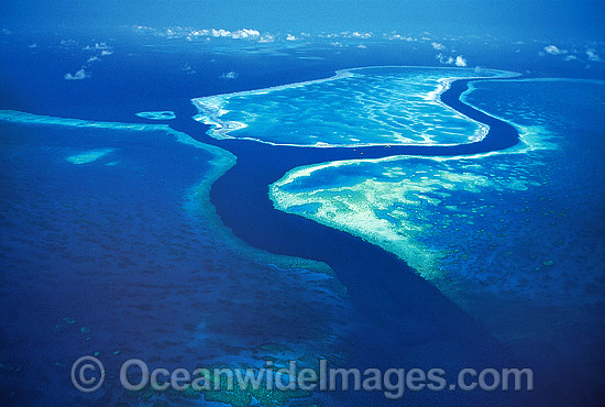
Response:
[{"label": "whole blue ocean surface with its reefs, below the distant clouds", "polygon": [[[253,403],[125,392],[132,358],[536,377],[534,392],[270,394],[264,406],[598,405],[598,73],[120,35],[2,37],[6,405]],[[89,77],[65,79],[82,64]],[[367,66],[382,67],[354,69]],[[94,394],[69,376],[87,354],[108,372]]]}]

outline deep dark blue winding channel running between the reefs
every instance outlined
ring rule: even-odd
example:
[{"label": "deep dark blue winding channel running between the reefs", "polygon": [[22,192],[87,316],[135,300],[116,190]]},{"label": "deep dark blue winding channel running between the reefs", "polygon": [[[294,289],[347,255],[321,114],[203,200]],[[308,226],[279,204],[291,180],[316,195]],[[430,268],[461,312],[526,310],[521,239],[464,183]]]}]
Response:
[{"label": "deep dark blue winding channel running between the reefs", "polygon": [[[519,133],[515,127],[460,100],[469,82],[477,79],[482,78],[447,80],[448,87],[439,92],[440,102],[449,109],[488,127],[483,139],[466,144],[312,148],[229,138],[217,140],[205,132],[211,131],[210,128],[200,130],[199,123],[182,117],[170,123],[174,129],[221,146],[238,157],[237,164],[212,185],[210,191],[217,213],[235,237],[271,253],[324,262],[336,272],[359,312],[359,323],[352,327],[351,346],[346,350],[351,354],[351,364],[383,367],[397,364],[529,365],[537,375],[541,372],[542,377],[552,370],[552,360],[544,358],[544,354],[552,355],[548,346],[519,348],[518,343],[513,345],[495,339],[481,322],[461,311],[393,253],[346,232],[282,212],[275,209],[268,196],[270,185],[295,167],[393,155],[471,156],[516,145]],[[326,79],[319,80],[323,82]],[[565,363],[560,362],[563,366]],[[554,391],[561,386],[558,380],[544,383],[541,391],[529,395],[506,396],[524,405],[528,404],[527,399],[557,405],[561,403],[560,396],[554,397]],[[466,396],[449,395],[440,398],[440,405],[460,405]],[[483,396],[470,397],[483,399]],[[418,402],[435,402],[427,394],[410,397]],[[487,399],[493,402],[490,397],[483,400],[487,403]]]}]

